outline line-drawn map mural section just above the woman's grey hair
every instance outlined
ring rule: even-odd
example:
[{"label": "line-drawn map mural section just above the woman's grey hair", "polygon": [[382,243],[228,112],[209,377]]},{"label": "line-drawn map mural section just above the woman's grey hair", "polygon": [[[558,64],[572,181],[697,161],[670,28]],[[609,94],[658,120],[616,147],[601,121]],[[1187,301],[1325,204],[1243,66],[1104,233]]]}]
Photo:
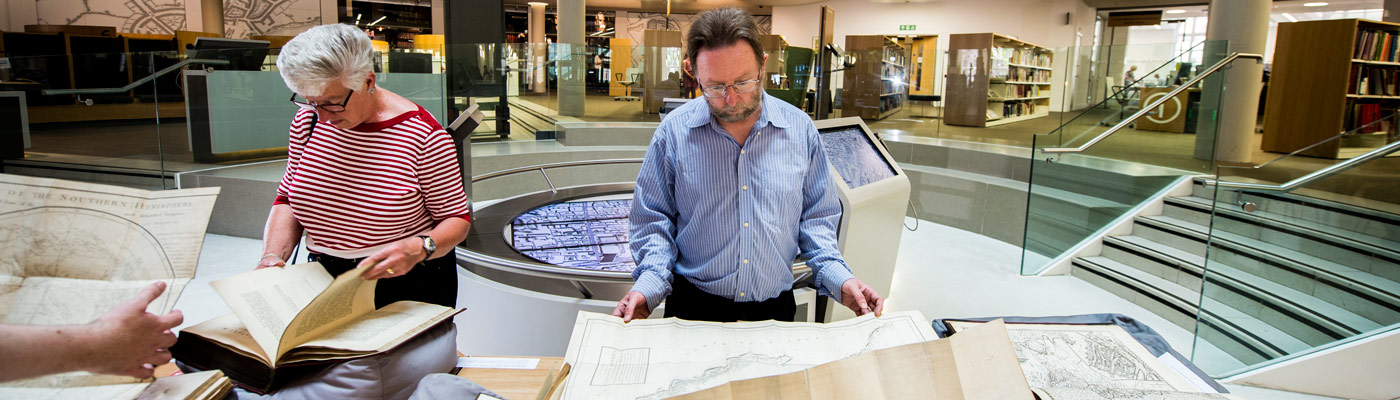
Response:
[{"label": "line-drawn map mural section just above the woman's grey hair", "polygon": [[224,0],[224,38],[293,36],[321,25],[318,0]]}]

